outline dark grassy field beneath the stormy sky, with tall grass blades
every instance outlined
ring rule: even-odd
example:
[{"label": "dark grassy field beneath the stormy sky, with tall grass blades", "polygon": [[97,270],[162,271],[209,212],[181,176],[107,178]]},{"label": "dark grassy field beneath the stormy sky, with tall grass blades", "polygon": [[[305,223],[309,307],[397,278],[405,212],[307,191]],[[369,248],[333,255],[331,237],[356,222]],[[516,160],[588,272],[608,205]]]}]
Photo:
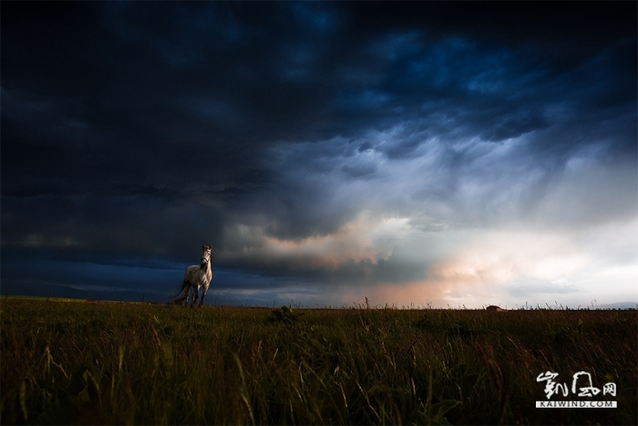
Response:
[{"label": "dark grassy field beneath the stormy sky, with tall grass blades", "polygon": [[[636,311],[0,308],[3,424],[638,421]],[[618,408],[535,408],[545,371]]]}]

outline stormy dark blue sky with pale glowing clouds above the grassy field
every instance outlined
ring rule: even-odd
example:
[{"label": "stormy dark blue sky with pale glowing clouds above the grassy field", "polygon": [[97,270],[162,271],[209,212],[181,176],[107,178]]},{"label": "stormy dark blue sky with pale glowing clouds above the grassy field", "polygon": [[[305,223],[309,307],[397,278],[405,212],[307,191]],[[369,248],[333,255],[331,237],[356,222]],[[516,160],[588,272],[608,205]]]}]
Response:
[{"label": "stormy dark blue sky with pale glowing clouds above the grassy field", "polygon": [[638,302],[635,2],[1,7],[3,295]]}]

